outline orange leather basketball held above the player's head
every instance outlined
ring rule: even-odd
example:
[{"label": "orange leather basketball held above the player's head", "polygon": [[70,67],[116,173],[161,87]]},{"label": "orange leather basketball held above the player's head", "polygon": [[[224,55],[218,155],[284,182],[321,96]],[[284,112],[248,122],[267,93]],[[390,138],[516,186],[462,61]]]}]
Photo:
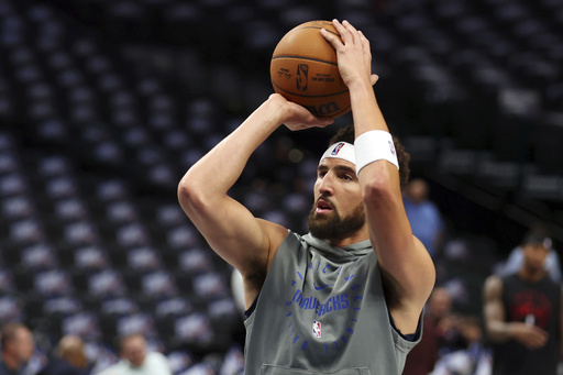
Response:
[{"label": "orange leather basketball held above the player's head", "polygon": [[269,67],[274,90],[318,117],[350,111],[350,93],[340,77],[336,52],[321,29],[338,35],[332,22],[309,21],[282,37]]}]

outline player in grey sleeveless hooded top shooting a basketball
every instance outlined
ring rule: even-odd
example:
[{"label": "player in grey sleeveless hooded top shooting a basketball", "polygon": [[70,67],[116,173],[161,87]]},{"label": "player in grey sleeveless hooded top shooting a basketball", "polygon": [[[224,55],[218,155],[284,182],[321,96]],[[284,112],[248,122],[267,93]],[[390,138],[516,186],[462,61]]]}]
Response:
[{"label": "player in grey sleeveless hooded top shooting a basketball", "polygon": [[342,42],[321,32],[336,49],[354,128],[320,158],[310,233],[254,218],[227,195],[278,126],[332,122],[277,93],[178,186],[187,216],[243,276],[245,374],[400,374],[434,285],[402,206],[399,172],[406,177],[408,156],[394,146],[375,99],[369,43],[349,22],[333,24]]}]

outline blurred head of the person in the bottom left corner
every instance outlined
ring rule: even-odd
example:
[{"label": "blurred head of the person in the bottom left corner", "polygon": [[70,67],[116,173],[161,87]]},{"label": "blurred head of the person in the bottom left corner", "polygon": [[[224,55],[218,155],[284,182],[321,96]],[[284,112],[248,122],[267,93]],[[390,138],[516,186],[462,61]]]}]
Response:
[{"label": "blurred head of the person in the bottom left corner", "polygon": [[35,350],[30,329],[22,323],[8,323],[2,327],[0,344],[0,375],[20,375]]}]

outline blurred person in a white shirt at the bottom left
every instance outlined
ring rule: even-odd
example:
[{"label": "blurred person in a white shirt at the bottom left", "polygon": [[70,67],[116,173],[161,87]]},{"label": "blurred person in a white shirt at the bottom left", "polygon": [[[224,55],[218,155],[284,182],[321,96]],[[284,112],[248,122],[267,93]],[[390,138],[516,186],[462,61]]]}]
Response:
[{"label": "blurred person in a white shirt at the bottom left", "polygon": [[128,334],[120,339],[119,346],[121,361],[100,375],[172,375],[166,356],[148,351],[144,335]]}]

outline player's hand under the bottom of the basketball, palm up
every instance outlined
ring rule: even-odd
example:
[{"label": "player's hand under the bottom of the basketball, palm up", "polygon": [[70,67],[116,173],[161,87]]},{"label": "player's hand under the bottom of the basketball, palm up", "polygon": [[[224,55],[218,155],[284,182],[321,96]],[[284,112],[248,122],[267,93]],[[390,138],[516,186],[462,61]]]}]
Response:
[{"label": "player's hand under the bottom of the basketball, palm up", "polygon": [[313,115],[307,108],[287,100],[279,93],[273,93],[268,98],[279,111],[280,122],[291,131],[309,128],[324,128],[334,122],[330,118]]}]

